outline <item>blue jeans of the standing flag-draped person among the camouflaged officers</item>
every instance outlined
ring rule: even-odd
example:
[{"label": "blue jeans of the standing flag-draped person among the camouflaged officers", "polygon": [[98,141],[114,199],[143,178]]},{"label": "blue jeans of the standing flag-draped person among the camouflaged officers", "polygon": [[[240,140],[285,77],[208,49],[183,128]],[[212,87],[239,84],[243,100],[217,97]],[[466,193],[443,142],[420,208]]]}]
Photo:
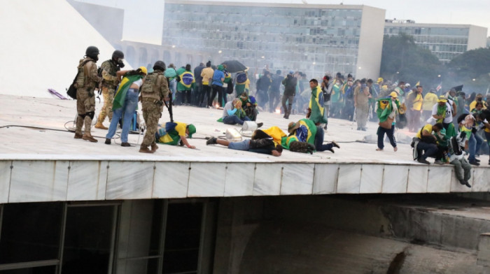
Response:
[{"label": "blue jeans of the standing flag-draped person among the camouflaged officers", "polygon": [[[131,120],[138,106],[138,89],[129,89],[126,94],[123,108],[113,110],[113,116],[106,138],[113,138],[118,129],[119,120],[123,117],[123,132],[121,132],[121,142],[127,143],[127,134],[130,133]],[[123,116],[124,115],[124,116]]]}]

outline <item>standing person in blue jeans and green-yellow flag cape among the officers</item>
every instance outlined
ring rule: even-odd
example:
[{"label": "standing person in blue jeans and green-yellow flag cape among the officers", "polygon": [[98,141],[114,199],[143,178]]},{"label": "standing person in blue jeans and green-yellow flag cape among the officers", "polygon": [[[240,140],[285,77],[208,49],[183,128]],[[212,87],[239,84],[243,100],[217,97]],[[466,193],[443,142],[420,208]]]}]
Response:
[{"label": "standing person in blue jeans and green-yellow flag cape among the officers", "polygon": [[143,85],[143,79],[146,76],[146,67],[140,66],[135,71],[118,71],[118,80],[124,75],[123,80],[120,80],[114,102],[112,106],[113,117],[109,131],[106,135],[106,145],[111,145],[111,138],[116,134],[119,120],[123,117],[123,131],[121,132],[121,146],[130,147],[127,143],[127,135],[130,133],[130,125],[134,111],[138,107],[139,87]]}]

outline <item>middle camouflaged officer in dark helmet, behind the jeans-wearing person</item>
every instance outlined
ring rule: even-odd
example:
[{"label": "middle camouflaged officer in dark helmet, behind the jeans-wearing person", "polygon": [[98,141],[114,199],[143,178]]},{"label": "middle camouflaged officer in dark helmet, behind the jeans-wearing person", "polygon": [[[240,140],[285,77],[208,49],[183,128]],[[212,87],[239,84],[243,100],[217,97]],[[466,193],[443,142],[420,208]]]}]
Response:
[{"label": "middle camouflaged officer in dark helmet, behind the jeans-wearing person", "polygon": [[[104,127],[104,120],[109,116],[109,122],[112,120],[112,103],[114,101],[114,90],[118,85],[118,77],[116,73],[124,68],[124,53],[120,50],[115,50],[112,54],[112,59],[104,61],[100,66],[102,70],[102,96],[104,96],[104,106],[99,113],[96,129],[107,129]],[[99,91],[100,94],[100,91]]]}]

